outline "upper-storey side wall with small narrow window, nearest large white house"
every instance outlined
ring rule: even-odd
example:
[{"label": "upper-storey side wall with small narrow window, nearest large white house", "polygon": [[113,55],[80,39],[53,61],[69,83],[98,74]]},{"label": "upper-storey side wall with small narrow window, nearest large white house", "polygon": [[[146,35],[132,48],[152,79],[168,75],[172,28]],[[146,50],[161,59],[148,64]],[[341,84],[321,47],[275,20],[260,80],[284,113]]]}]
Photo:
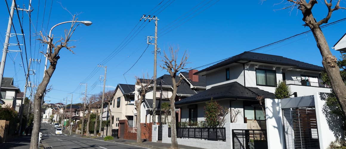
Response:
[{"label": "upper-storey side wall with small narrow window, nearest large white house", "polygon": [[230,82],[238,82],[244,85],[243,64],[235,65],[229,68],[229,80],[226,80],[226,69],[222,69],[206,75],[207,90],[212,86],[226,84]]}]

